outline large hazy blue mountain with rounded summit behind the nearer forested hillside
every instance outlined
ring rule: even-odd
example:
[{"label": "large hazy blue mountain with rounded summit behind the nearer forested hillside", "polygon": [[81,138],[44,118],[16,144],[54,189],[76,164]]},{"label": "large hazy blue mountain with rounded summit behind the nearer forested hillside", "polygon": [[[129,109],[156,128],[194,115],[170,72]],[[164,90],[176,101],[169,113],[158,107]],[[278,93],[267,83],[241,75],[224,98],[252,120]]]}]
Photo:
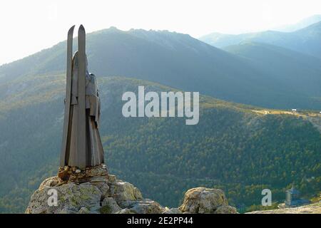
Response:
[{"label": "large hazy blue mountain with rounded summit behind the nearer forested hillside", "polygon": [[[187,34],[109,28],[89,33],[89,71],[125,76],[199,91],[223,100],[267,108],[310,108],[319,100],[300,87],[292,90],[271,81],[266,71],[246,58],[220,50]],[[41,74],[63,73],[66,41],[0,67],[0,82]],[[76,50],[76,42],[74,44]]]}]

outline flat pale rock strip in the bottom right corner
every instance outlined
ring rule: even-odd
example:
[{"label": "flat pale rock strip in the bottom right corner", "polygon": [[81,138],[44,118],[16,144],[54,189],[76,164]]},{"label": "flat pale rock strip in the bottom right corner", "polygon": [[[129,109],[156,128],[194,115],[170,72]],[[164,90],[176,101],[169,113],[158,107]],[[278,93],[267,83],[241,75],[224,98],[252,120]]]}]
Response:
[{"label": "flat pale rock strip in the bottom right corner", "polygon": [[247,214],[321,214],[321,202],[308,204],[302,207],[269,209],[265,211],[248,212]]}]

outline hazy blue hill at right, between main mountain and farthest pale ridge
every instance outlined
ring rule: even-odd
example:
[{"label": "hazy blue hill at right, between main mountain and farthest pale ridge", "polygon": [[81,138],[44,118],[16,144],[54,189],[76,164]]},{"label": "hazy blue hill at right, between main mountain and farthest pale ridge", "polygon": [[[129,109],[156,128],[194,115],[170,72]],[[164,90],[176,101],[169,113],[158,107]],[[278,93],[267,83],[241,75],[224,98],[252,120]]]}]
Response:
[{"label": "hazy blue hill at right, between main mountain and farthest pale ridge", "polygon": [[275,83],[275,88],[282,90],[287,87],[295,92],[292,100],[300,103],[302,94],[310,93],[310,106],[321,110],[321,106],[317,105],[321,88],[321,60],[319,58],[287,48],[251,41],[228,46],[224,50],[247,58],[254,66],[269,75],[270,81],[278,82]]}]

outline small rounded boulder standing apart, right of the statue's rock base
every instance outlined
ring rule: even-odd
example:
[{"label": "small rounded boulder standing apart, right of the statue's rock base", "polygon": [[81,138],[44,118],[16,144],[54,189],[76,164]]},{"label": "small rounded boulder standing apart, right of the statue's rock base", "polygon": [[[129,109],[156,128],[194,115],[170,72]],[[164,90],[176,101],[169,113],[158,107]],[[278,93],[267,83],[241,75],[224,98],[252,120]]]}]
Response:
[{"label": "small rounded boulder standing apart, right of the statue's rock base", "polygon": [[183,213],[227,213],[234,214],[236,209],[228,206],[224,192],[218,189],[196,187],[185,193],[183,204],[179,207]]}]

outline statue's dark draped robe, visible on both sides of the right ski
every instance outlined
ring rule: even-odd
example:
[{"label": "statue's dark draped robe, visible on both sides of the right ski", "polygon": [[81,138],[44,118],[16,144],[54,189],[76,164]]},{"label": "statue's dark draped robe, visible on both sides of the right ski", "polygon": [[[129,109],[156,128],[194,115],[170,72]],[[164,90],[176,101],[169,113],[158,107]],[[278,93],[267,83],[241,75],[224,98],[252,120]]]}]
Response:
[{"label": "statue's dark draped robe, visible on both sides of the right ski", "polygon": [[[71,104],[65,153],[65,165],[78,167],[77,153],[77,123],[78,123],[78,52],[73,56],[71,78]],[[96,76],[88,73],[86,59],[86,167],[101,165],[103,159],[103,145],[99,135],[99,118],[101,102],[98,96]]]}]

